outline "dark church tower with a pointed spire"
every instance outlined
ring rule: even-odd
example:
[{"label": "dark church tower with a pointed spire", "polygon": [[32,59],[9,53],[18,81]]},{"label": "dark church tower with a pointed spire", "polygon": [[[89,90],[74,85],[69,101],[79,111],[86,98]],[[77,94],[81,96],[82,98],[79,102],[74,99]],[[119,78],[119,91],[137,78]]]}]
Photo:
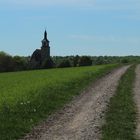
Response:
[{"label": "dark church tower with a pointed spire", "polygon": [[41,46],[41,60],[44,61],[47,58],[50,58],[50,46],[49,46],[49,40],[47,39],[47,32],[45,30],[44,32],[44,39],[42,40],[42,46]]}]

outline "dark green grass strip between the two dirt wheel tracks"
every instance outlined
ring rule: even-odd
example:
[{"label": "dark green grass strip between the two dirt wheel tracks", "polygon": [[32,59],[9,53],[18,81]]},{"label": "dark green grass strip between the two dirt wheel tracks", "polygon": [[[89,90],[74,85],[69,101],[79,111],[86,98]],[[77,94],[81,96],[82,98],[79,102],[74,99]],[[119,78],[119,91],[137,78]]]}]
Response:
[{"label": "dark green grass strip between the two dirt wheel tracks", "polygon": [[135,66],[122,76],[106,112],[102,140],[135,140],[136,106],[133,98]]}]

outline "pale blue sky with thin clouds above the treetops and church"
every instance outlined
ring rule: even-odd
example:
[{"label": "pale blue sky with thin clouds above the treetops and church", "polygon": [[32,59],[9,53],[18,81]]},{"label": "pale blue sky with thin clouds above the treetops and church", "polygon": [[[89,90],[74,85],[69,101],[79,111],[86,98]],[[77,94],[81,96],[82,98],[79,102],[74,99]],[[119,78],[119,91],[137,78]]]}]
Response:
[{"label": "pale blue sky with thin clouds above the treetops and church", "polygon": [[52,56],[140,55],[140,0],[0,0],[0,51],[29,56],[45,29]]}]

